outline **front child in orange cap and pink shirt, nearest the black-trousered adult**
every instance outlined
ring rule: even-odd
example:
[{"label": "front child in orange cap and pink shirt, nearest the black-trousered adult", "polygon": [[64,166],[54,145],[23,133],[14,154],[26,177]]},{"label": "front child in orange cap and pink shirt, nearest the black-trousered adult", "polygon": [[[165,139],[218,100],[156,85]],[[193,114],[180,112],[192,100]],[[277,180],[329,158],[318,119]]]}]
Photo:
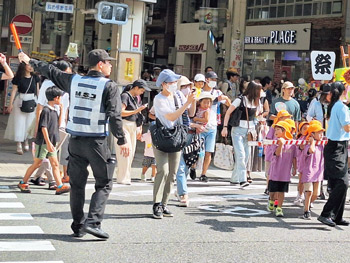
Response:
[{"label": "front child in orange cap and pink shirt, nearest the black-trousered adult", "polygon": [[303,166],[301,182],[303,183],[305,191],[303,219],[311,219],[310,207],[318,197],[320,183],[323,180],[324,146],[316,146],[316,142],[322,140],[324,131],[321,123],[310,125],[307,130],[308,135],[306,139],[309,140],[310,144],[305,145],[302,152]]}]

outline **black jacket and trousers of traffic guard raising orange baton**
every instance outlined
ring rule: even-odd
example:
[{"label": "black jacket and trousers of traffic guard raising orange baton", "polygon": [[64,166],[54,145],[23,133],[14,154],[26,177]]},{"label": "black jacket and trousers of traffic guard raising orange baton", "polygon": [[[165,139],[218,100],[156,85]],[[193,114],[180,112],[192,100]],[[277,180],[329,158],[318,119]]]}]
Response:
[{"label": "black jacket and trousers of traffic guard raising orange baton", "polygon": [[[74,74],[67,74],[45,62],[30,60],[35,71],[49,78],[60,89],[71,90]],[[98,71],[89,71],[92,78],[104,77]],[[87,89],[87,91],[89,91]],[[74,95],[74,94],[73,94]],[[72,96],[72,94],[70,94]],[[106,118],[109,119],[110,130],[118,139],[118,144],[125,144],[125,136],[121,118],[121,99],[117,84],[113,81],[106,83],[102,94],[102,106]],[[69,141],[68,174],[70,176],[70,206],[73,217],[72,229],[79,232],[84,224],[100,227],[109,193],[113,186],[113,171],[115,163],[111,162],[110,150],[106,136],[86,137],[72,136]],[[95,193],[93,193],[88,217],[84,216],[85,185],[88,177],[87,167],[90,164],[95,177]]]}]

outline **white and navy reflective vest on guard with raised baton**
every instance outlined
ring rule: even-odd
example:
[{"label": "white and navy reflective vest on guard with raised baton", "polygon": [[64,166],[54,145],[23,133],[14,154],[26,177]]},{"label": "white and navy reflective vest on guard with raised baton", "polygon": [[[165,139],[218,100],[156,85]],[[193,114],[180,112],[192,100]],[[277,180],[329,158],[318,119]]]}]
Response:
[{"label": "white and navy reflective vest on guard with raised baton", "polygon": [[108,81],[103,77],[73,77],[66,128],[68,133],[87,137],[108,135],[108,120],[102,103],[102,94]]}]

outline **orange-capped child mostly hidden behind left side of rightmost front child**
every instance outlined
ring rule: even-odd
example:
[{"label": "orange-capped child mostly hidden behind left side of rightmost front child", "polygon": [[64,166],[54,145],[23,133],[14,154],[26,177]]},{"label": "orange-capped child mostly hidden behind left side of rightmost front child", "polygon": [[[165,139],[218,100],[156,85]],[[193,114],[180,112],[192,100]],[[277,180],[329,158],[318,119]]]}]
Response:
[{"label": "orange-capped child mostly hidden behind left side of rightmost front child", "polygon": [[[299,124],[299,133],[297,135],[297,140],[299,141],[303,141],[305,140],[306,136],[307,136],[307,129],[309,128],[309,123],[306,121],[303,121]],[[302,152],[304,149],[304,145],[300,145],[299,147],[297,147],[297,169],[298,169],[298,194],[297,197],[295,198],[295,200],[293,201],[294,205],[297,206],[303,206],[303,184],[301,183],[300,179],[302,177],[302,168],[303,168],[303,156],[302,156]]]}]

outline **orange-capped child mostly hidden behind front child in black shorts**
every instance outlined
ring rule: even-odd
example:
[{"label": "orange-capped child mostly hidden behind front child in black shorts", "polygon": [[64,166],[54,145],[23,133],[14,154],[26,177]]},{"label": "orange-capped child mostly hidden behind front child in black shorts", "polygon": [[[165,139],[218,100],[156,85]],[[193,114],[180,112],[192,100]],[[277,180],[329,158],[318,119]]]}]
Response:
[{"label": "orange-capped child mostly hidden behind front child in black shorts", "polygon": [[[291,118],[292,115],[290,115],[288,113],[288,111],[286,110],[281,110],[277,113],[277,117],[274,119],[273,124],[278,123],[279,121],[284,121],[287,120],[289,118]],[[266,140],[275,140],[275,129],[271,126],[269,132],[266,135]],[[269,190],[268,190],[268,186],[269,186],[269,170],[270,170],[270,163],[271,163],[271,159],[273,156],[273,150],[271,148],[271,146],[266,146],[265,147],[265,177],[266,177],[266,189],[264,194],[268,195],[269,194]]]}]

